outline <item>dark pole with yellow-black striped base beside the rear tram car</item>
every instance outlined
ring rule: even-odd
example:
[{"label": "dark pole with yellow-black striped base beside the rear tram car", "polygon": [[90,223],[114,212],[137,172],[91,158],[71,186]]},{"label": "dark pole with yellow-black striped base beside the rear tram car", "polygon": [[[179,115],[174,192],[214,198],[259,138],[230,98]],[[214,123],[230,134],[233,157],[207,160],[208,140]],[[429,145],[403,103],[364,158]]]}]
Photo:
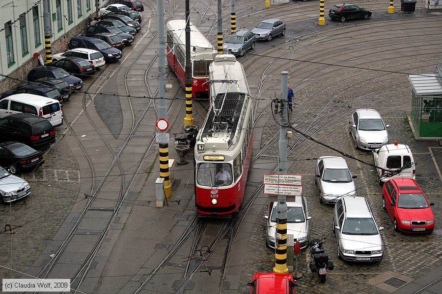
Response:
[{"label": "dark pole with yellow-black striped base beside the rear tram car", "polygon": [[190,0],[186,0],[186,117],[184,125],[195,124],[192,115],[192,63],[190,60]]}]

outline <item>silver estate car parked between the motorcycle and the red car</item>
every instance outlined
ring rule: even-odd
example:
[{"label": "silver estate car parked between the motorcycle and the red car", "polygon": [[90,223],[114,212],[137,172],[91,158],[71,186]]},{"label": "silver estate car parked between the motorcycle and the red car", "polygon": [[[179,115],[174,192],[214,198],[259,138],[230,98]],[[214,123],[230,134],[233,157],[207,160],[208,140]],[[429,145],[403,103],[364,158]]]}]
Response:
[{"label": "silver estate car parked between the motorcycle and the red car", "polygon": [[333,232],[338,258],[372,262],[384,257],[384,243],[373,210],[365,197],[341,197],[334,205]]}]

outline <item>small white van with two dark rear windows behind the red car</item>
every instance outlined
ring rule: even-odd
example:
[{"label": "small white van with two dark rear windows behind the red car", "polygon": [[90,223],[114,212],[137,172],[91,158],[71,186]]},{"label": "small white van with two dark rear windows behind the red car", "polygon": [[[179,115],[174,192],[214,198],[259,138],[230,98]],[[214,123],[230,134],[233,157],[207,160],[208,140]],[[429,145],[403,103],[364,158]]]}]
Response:
[{"label": "small white van with two dark rear windows behind the red car", "polygon": [[[398,144],[397,141],[394,144],[384,145],[373,151],[373,159],[377,167],[391,171],[376,169],[380,185],[391,178],[416,178],[413,154],[407,145]],[[396,173],[402,168],[404,169],[401,172]]]}]

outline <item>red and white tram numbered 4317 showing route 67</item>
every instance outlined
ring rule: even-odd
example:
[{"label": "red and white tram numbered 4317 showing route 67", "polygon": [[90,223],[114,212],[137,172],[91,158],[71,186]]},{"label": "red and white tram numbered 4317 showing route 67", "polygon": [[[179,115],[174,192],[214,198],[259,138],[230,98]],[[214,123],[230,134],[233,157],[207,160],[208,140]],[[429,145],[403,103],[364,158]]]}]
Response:
[{"label": "red and white tram numbered 4317 showing route 67", "polygon": [[231,54],[209,67],[211,107],[194,148],[200,215],[235,213],[243,201],[252,152],[252,100],[243,66]]}]

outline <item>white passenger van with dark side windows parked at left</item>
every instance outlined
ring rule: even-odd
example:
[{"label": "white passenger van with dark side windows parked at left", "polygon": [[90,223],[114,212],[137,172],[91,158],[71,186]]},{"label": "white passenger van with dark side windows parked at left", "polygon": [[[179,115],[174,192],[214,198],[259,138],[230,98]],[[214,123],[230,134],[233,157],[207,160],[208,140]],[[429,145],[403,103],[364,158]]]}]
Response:
[{"label": "white passenger van with dark side windows parked at left", "polygon": [[34,94],[15,94],[0,100],[0,119],[20,112],[45,118],[53,126],[63,124],[63,112],[58,100]]}]

